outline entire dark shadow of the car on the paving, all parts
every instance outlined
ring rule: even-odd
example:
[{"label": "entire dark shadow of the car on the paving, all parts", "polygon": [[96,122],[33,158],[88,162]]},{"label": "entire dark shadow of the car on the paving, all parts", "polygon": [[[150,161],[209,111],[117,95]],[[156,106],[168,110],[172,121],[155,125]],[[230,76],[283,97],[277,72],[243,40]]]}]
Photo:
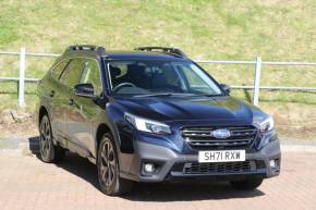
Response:
[{"label": "entire dark shadow of the car on the paving, all parts", "polygon": [[[39,158],[38,144],[36,146],[36,143],[38,143],[38,137],[29,138],[29,150]],[[56,165],[99,189],[96,165],[87,159],[81,158],[73,152],[66,152],[64,161]],[[264,195],[259,189],[241,192],[232,189],[228,183],[199,181],[160,184],[138,183],[130,194],[121,198],[131,201],[165,202],[253,198]]]}]

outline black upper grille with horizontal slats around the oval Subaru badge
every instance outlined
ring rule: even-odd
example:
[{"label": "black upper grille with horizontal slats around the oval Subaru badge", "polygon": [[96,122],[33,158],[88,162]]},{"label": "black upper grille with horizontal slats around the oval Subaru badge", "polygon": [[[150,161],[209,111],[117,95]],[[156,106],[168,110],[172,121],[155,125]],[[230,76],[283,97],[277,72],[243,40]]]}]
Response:
[{"label": "black upper grille with horizontal slats around the oval Subaru badge", "polygon": [[[216,138],[211,132],[217,128],[229,129],[228,138]],[[240,127],[189,127],[182,131],[182,136],[193,148],[247,148],[256,138],[257,129],[254,126]]]}]

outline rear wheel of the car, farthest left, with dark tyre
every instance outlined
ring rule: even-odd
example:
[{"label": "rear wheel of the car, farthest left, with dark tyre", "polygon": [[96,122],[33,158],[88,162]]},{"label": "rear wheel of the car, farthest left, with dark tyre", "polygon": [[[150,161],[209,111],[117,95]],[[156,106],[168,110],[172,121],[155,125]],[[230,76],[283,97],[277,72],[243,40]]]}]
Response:
[{"label": "rear wheel of the car, farthest left, with dark tyre", "polygon": [[51,124],[47,115],[40,119],[39,151],[40,159],[47,163],[57,163],[61,161],[65,155],[65,150],[62,147],[53,144]]}]

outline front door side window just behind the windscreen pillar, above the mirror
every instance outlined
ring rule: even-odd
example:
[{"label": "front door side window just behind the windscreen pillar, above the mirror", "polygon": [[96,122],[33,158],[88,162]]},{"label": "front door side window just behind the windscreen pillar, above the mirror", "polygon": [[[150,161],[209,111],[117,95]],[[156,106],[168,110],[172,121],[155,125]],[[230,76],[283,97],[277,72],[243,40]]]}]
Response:
[{"label": "front door side window just behind the windscreen pillar, above the mirror", "polygon": [[100,78],[99,64],[95,60],[86,60],[84,62],[83,73],[80,83],[90,83],[95,88],[95,95],[102,91],[102,83]]}]

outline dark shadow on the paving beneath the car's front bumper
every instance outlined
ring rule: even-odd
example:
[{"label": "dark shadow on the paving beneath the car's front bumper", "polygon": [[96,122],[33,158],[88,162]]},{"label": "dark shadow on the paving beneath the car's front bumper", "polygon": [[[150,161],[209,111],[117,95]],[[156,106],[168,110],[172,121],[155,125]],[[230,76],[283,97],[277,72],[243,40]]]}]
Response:
[{"label": "dark shadow on the paving beneath the car's front bumper", "polygon": [[234,190],[229,183],[165,183],[165,184],[137,184],[125,199],[146,202],[166,201],[198,201],[221,200],[231,198],[254,198],[264,196],[259,190],[241,192]]}]

